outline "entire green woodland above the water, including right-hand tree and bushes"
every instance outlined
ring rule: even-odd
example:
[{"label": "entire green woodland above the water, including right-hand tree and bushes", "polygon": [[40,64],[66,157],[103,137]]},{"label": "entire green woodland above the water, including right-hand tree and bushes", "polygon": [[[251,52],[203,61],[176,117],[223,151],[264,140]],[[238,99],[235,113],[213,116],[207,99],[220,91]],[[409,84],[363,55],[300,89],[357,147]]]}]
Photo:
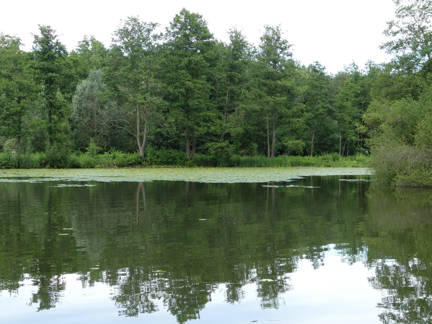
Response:
[{"label": "entire green woodland above the water, including right-hand tree and bushes", "polygon": [[68,52],[40,25],[25,52],[0,34],[0,167],[359,162],[372,151],[381,178],[414,184],[413,172],[432,174],[432,2],[395,5],[382,45],[393,59],[336,75],[296,60],[280,26],[264,26],[257,46],[233,28],[227,44],[186,9],[160,34],[129,17],[109,47],[85,36]]}]

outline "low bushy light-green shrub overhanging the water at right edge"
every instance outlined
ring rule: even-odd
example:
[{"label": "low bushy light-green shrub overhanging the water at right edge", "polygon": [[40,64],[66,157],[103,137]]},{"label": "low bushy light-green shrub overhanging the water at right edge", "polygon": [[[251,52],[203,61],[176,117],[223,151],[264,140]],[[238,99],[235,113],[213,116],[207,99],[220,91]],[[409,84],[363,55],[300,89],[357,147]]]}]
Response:
[{"label": "low bushy light-green shrub overhanging the water at right edge", "polygon": [[[375,127],[373,166],[380,181],[395,185],[429,186],[432,165],[432,89],[397,101],[374,102],[366,118]],[[416,178],[417,177],[417,178]]]}]

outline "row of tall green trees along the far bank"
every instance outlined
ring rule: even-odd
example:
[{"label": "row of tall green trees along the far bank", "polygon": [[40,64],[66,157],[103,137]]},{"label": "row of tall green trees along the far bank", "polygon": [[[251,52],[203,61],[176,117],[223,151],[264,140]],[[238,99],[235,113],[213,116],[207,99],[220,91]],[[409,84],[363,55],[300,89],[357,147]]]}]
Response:
[{"label": "row of tall green trees along the far bank", "polygon": [[1,34],[3,150],[72,153],[93,145],[143,158],[151,147],[191,159],[349,156],[368,148],[363,115],[378,65],[328,74],[318,62],[295,60],[280,26],[264,26],[258,46],[236,28],[224,43],[186,9],[165,33],[158,26],[129,17],[109,48],[84,37],[70,52],[50,26],[39,26],[29,52]]}]

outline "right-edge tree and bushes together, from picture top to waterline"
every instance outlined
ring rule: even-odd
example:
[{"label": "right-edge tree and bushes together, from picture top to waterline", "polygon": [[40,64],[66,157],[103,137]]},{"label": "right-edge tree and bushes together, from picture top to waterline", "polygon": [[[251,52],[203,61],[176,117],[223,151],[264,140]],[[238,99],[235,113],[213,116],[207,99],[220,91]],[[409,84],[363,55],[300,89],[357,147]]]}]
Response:
[{"label": "right-edge tree and bushes together, from picture top to waterline", "polygon": [[432,166],[431,1],[395,1],[382,45],[393,60],[375,67],[372,102],[365,113],[378,180],[429,187]]}]

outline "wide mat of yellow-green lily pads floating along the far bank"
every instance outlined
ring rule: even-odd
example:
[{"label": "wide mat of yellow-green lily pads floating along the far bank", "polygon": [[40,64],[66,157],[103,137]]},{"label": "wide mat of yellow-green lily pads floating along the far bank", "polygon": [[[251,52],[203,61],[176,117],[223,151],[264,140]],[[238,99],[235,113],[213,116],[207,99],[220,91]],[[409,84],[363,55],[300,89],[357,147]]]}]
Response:
[{"label": "wide mat of yellow-green lily pads floating along the far bank", "polygon": [[288,181],[308,175],[371,175],[370,168],[94,168],[3,169],[0,182],[195,181],[213,183]]}]

